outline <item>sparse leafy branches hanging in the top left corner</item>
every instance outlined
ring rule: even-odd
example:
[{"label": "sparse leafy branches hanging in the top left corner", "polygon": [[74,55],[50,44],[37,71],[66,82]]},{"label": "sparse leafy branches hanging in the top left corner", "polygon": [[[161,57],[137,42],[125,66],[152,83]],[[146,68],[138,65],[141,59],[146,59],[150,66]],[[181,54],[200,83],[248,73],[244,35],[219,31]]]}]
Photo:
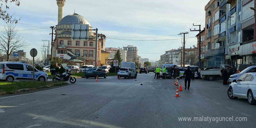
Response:
[{"label": "sparse leafy branches hanging in the top left corner", "polygon": [[20,0],[0,0],[0,18],[6,23],[17,23],[20,19],[12,19],[13,15],[8,13],[8,9],[10,9],[10,7],[7,5],[8,3],[15,3],[16,6],[19,6]]}]

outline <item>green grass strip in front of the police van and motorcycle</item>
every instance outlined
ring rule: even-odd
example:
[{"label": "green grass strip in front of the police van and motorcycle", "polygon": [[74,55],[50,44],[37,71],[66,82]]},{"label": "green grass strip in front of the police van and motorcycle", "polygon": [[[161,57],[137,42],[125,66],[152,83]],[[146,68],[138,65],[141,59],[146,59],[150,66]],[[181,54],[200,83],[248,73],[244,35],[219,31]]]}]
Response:
[{"label": "green grass strip in front of the police van and motorcycle", "polygon": [[54,84],[54,86],[61,86],[67,84],[66,82],[60,82],[60,81],[35,81],[35,85],[33,85],[33,81],[20,81],[20,82],[6,82],[1,81],[0,82],[0,93],[1,92],[7,92],[8,94],[11,94],[12,91],[20,90],[20,89],[26,89],[26,88],[41,88],[41,86],[51,85]]}]

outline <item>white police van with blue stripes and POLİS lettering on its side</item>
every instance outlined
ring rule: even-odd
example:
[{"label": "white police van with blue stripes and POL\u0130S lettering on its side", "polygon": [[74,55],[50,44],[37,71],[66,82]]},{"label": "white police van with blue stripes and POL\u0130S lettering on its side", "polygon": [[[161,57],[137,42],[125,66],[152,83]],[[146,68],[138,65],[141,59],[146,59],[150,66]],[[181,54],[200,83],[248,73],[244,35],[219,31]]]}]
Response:
[{"label": "white police van with blue stripes and POL\u0130S lettering on its side", "polygon": [[[46,81],[46,72],[35,70],[35,80]],[[33,80],[33,66],[20,62],[0,62],[0,79],[5,81]]]}]

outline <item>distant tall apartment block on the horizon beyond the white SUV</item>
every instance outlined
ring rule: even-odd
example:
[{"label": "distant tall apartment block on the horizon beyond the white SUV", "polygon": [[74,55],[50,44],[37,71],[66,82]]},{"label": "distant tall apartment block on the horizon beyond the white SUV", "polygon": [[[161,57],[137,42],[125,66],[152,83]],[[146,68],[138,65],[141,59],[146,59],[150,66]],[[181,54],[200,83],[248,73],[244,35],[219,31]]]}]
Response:
[{"label": "distant tall apartment block on the horizon beyond the white SUV", "polygon": [[127,47],[123,47],[124,50],[127,51],[127,61],[136,62],[138,58],[138,49],[133,45],[128,45]]}]

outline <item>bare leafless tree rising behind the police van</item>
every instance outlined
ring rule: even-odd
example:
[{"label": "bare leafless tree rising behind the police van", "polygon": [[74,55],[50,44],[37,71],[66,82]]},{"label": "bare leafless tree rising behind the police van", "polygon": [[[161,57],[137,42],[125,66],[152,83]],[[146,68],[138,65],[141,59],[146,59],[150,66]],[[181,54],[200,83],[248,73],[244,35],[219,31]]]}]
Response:
[{"label": "bare leafless tree rising behind the police van", "polygon": [[6,61],[9,61],[10,55],[18,50],[23,50],[28,44],[18,33],[15,24],[7,24],[1,30],[0,34],[0,52],[7,55]]}]

